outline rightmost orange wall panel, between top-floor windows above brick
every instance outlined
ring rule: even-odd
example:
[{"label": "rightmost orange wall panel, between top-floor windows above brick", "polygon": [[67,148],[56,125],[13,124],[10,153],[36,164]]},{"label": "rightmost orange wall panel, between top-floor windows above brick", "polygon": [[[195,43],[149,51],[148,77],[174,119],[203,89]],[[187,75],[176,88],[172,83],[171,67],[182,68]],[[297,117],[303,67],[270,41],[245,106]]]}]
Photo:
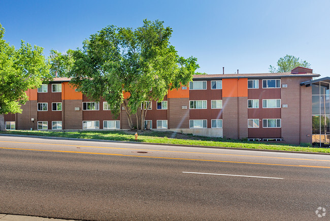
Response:
[{"label": "rightmost orange wall panel, between top-floor windows above brick", "polygon": [[222,97],[247,97],[247,78],[222,79]]}]

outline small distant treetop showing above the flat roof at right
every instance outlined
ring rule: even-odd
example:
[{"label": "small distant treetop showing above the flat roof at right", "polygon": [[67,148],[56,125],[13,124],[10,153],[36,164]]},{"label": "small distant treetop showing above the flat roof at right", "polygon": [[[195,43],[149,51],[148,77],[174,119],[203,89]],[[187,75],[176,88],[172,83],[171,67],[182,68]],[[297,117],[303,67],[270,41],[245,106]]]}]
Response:
[{"label": "small distant treetop showing above the flat roof at right", "polygon": [[296,67],[310,68],[311,65],[306,60],[299,60],[299,57],[294,57],[292,55],[285,55],[277,61],[277,67],[269,66],[269,72],[279,73],[279,72],[291,72],[292,69]]}]

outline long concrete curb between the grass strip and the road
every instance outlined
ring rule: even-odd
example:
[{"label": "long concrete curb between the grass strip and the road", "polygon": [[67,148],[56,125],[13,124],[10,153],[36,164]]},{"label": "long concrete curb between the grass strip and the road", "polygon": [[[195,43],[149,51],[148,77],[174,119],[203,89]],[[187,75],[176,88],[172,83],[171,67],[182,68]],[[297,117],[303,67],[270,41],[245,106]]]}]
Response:
[{"label": "long concrete curb between the grass strip and the road", "polygon": [[242,147],[202,146],[202,145],[186,145],[186,144],[167,144],[167,143],[148,143],[148,142],[135,142],[135,141],[97,140],[97,139],[84,139],[84,138],[47,137],[47,136],[17,135],[17,134],[0,134],[0,136],[8,136],[8,137],[32,137],[32,138],[34,137],[34,138],[44,138],[44,139],[52,139],[52,140],[79,140],[79,141],[96,141],[96,142],[109,142],[109,143],[135,143],[135,144],[162,145],[162,146],[203,147],[203,148],[213,148],[213,149],[254,150],[254,151],[266,151],[266,152],[305,153],[305,154],[330,155],[330,153],[321,153],[321,152],[290,151],[290,150],[270,150],[270,149],[253,149],[253,148],[242,148]]}]

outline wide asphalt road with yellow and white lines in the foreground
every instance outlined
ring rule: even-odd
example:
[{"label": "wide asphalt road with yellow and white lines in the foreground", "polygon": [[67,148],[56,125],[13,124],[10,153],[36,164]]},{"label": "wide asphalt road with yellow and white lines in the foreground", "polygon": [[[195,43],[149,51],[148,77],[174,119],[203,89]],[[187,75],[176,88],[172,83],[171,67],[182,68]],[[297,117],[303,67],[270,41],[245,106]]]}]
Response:
[{"label": "wide asphalt road with yellow and white lines in the foreground", "polygon": [[330,156],[0,136],[0,213],[330,220]]}]

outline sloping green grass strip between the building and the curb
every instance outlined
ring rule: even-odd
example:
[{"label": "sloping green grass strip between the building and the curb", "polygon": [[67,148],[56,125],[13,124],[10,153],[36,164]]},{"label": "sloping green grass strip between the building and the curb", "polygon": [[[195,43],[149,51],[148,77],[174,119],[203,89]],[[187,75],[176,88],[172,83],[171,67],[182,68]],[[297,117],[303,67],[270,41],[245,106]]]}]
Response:
[{"label": "sloping green grass strip between the building and the curb", "polygon": [[[113,141],[136,141],[135,131],[5,131],[2,134],[17,134],[29,136],[45,136],[45,137],[67,137],[67,138],[83,138]],[[316,148],[294,146],[281,143],[265,143],[250,142],[233,139],[223,139],[204,136],[193,136],[189,134],[181,134],[174,132],[160,131],[144,131],[138,132],[138,142],[148,143],[167,143],[167,144],[186,144],[201,146],[219,146],[219,147],[239,147],[251,149],[271,149],[271,150],[288,150],[288,151],[305,151],[305,152],[323,152],[330,153],[330,148]]]}]

